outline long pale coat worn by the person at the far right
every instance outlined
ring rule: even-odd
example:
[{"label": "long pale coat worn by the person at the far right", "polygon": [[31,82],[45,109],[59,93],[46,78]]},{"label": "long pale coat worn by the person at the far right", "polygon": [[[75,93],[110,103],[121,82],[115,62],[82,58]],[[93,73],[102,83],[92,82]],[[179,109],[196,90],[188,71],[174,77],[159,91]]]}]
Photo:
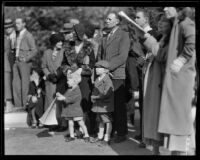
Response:
[{"label": "long pale coat worn by the person at the far right", "polygon": [[[170,69],[173,61],[184,56],[187,62],[178,73]],[[177,19],[171,31],[164,78],[160,119],[160,133],[187,136],[192,131],[192,97],[195,84],[195,24],[189,18]]]}]

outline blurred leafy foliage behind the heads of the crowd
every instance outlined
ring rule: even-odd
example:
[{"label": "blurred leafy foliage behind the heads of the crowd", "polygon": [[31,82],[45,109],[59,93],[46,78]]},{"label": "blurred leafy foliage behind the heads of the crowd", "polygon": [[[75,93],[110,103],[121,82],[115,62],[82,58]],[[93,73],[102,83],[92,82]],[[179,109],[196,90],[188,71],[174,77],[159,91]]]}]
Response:
[{"label": "blurred leafy foliage behind the heads of the crowd", "polygon": [[[134,19],[139,7],[4,7],[4,18],[15,19],[24,15],[27,28],[33,34],[38,46],[38,56],[41,57],[48,44],[48,37],[52,31],[59,31],[70,18],[80,21],[90,21],[104,25],[106,15],[111,11],[123,10]],[[141,8],[141,7],[140,7]],[[150,25],[157,29],[157,17],[163,12],[163,7],[142,7],[150,16]]]}]

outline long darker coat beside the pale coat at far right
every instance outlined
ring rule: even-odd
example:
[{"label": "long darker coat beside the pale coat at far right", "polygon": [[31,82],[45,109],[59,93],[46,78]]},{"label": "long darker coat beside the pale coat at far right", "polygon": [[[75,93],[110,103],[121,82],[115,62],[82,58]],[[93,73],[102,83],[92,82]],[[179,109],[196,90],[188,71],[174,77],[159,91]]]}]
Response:
[{"label": "long darker coat beside the pale coat at far right", "polygon": [[144,138],[158,141],[161,140],[158,121],[167,50],[168,45],[160,48],[147,69],[148,78],[143,102]]}]

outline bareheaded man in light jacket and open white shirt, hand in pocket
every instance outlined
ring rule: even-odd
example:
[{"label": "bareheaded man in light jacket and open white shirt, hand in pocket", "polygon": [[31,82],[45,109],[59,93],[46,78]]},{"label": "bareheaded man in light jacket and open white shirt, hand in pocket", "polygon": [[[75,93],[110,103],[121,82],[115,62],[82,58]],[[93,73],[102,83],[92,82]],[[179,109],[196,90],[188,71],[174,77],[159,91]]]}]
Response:
[{"label": "bareheaded man in light jacket and open white shirt, hand in pocket", "polygon": [[25,28],[23,17],[16,18],[16,61],[13,65],[13,96],[15,107],[25,108],[30,82],[32,60],[37,53],[35,40]]}]

